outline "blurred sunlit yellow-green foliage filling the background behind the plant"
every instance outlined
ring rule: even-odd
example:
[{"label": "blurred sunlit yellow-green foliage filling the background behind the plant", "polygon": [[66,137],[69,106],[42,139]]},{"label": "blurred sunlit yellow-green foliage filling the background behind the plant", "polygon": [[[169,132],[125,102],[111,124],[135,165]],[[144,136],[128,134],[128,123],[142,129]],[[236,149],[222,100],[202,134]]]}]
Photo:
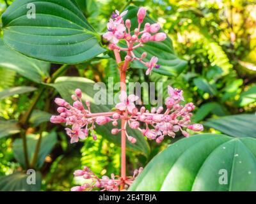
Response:
[{"label": "blurred sunlit yellow-green foliage filling the background behind the plant", "polygon": [[[0,0],[0,14],[10,4],[10,0]],[[152,73],[147,77],[142,69],[132,69],[127,76],[129,82],[163,82],[164,89],[166,85],[182,89],[186,101],[195,103],[197,107],[194,122],[202,123],[225,115],[255,113],[256,1],[88,0],[84,1],[81,8],[93,27],[99,33],[104,33],[112,11],[124,10],[129,4],[145,6],[150,17],[159,22],[172,39],[176,54],[188,61],[188,66],[179,77],[159,73]],[[1,36],[3,33],[0,33]],[[52,64],[50,73],[58,67]],[[70,66],[65,75],[105,83],[108,82],[108,77],[114,77],[115,82],[119,80],[115,61],[108,57]],[[40,85],[11,69],[0,67],[0,76],[0,94],[5,89],[19,86],[40,89]],[[14,94],[3,99],[0,97],[0,121],[19,120],[27,112],[35,92],[37,91]],[[31,126],[25,133],[33,134],[35,138],[40,135],[42,128],[47,133],[57,133],[56,143],[40,166],[41,189],[68,191],[74,183],[79,182],[74,180],[73,171],[84,165],[92,168],[98,175],[110,172],[118,175],[120,147],[106,140],[104,135],[98,135],[96,142],[88,138],[85,142],[70,145],[62,126],[45,122],[49,120],[47,113],[56,113],[56,106],[52,103],[56,96],[58,92],[54,89],[49,88],[49,91],[44,92],[36,103],[37,112],[34,111],[31,115]],[[207,127],[205,132],[220,133],[218,129]],[[10,175],[22,168],[17,163],[19,159],[15,157],[13,150],[16,138],[19,138],[19,133],[0,137],[0,176]],[[136,152],[127,152],[129,173],[139,166],[145,166],[152,157],[175,140],[164,140],[161,144],[148,142],[151,149],[148,158]]]}]

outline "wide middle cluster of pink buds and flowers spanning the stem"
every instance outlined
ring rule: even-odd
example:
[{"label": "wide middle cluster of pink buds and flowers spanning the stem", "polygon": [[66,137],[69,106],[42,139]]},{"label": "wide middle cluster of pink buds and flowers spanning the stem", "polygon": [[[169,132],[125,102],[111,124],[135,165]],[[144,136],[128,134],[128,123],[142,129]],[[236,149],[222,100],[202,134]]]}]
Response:
[{"label": "wide middle cluster of pink buds and flowers spanning the stem", "polygon": [[[86,108],[84,108],[81,101],[81,90],[76,89],[76,95],[72,95],[73,105],[70,105],[64,99],[55,99],[56,104],[60,106],[57,109],[60,115],[53,115],[51,122],[65,122],[67,126],[72,127],[71,129],[65,129],[67,135],[71,138],[71,143],[78,142],[79,138],[84,140],[90,132],[92,132],[93,139],[96,140],[95,124],[102,126],[112,122],[113,126],[117,126],[120,119],[125,119],[124,130],[127,139],[131,143],[136,143],[136,138],[127,133],[128,126],[131,129],[138,129],[148,140],[156,140],[157,143],[162,142],[164,136],[174,138],[179,131],[182,135],[188,137],[189,133],[186,129],[202,131],[204,127],[201,124],[191,124],[191,112],[195,109],[193,103],[180,105],[180,102],[184,101],[182,91],[168,86],[168,94],[169,97],[165,101],[165,112],[162,106],[152,108],[150,112],[144,106],[138,110],[134,105],[138,96],[133,94],[127,96],[126,92],[122,91],[119,96],[120,103],[116,104],[116,109],[113,112],[91,113],[90,103],[86,101]],[[113,128],[111,133],[116,135],[120,131],[122,129]]]}]

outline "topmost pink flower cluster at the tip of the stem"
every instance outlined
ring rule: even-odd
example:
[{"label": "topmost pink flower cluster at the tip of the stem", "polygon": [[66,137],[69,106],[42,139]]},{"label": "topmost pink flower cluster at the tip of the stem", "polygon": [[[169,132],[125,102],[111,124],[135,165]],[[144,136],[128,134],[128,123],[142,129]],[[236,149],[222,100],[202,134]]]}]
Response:
[{"label": "topmost pink flower cluster at the tip of the stem", "polygon": [[[134,29],[133,34],[131,33],[131,20],[123,20],[122,17],[126,15],[127,11],[122,12],[115,11],[112,18],[109,19],[107,24],[108,32],[103,34],[103,37],[110,42],[109,49],[119,50],[127,52],[125,61],[131,62],[134,60],[140,61],[142,64],[147,66],[146,75],[149,75],[153,68],[160,68],[157,64],[158,58],[153,56],[149,62],[144,62],[143,59],[147,57],[147,52],[143,52],[140,57],[136,57],[133,50],[138,47],[143,47],[144,43],[148,41],[163,41],[166,39],[165,33],[157,33],[161,27],[159,24],[146,23],[144,28],[141,30],[141,24],[146,17],[145,8],[138,10],[138,27]],[[127,47],[118,46],[119,40],[125,40]]]}]

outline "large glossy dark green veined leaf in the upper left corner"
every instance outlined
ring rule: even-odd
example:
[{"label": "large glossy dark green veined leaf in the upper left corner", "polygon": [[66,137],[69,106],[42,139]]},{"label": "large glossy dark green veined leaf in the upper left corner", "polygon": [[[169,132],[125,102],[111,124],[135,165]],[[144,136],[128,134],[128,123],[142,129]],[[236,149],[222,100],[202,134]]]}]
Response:
[{"label": "large glossy dark green veined leaf in the upper left corner", "polygon": [[[29,3],[35,4],[35,18],[27,17]],[[29,57],[76,64],[104,52],[97,33],[72,1],[14,1],[2,22],[4,42]]]}]

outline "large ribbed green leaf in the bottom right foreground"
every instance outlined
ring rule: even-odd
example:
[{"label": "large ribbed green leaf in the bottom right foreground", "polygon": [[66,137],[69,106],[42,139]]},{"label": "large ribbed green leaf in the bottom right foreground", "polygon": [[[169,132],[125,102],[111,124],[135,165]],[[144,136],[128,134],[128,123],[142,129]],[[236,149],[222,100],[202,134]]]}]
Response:
[{"label": "large ribbed green leaf in the bottom right foreground", "polygon": [[256,139],[183,138],[154,157],[130,190],[256,191]]}]

